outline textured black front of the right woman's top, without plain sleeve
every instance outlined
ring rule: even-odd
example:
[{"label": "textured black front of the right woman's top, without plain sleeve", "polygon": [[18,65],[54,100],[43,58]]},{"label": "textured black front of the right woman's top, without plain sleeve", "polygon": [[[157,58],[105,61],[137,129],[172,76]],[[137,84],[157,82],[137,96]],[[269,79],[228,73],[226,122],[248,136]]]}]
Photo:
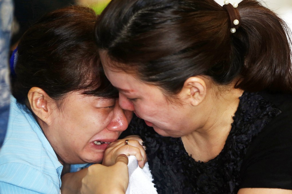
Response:
[{"label": "textured black front of the right woman's top, without plain sleeve", "polygon": [[258,93],[244,92],[223,150],[206,163],[194,161],[181,138],[162,137],[139,118],[133,119],[130,129],[142,137],[147,147],[158,193],[237,193],[241,165],[251,141],[280,113]]}]

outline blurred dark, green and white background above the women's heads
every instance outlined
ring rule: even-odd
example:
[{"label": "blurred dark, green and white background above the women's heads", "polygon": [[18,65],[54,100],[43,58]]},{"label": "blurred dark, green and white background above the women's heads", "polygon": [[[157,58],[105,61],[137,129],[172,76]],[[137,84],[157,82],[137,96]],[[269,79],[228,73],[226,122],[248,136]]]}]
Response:
[{"label": "blurred dark, green and white background above the women's heads", "polygon": [[[11,50],[13,50],[21,35],[33,24],[39,17],[49,11],[65,7],[70,4],[84,5],[93,8],[100,13],[110,0],[14,0],[14,19],[11,39]],[[223,5],[224,0],[215,0]],[[230,3],[238,0],[230,0]],[[261,0],[262,4],[275,11],[283,18],[290,28],[292,28],[292,0]]]}]

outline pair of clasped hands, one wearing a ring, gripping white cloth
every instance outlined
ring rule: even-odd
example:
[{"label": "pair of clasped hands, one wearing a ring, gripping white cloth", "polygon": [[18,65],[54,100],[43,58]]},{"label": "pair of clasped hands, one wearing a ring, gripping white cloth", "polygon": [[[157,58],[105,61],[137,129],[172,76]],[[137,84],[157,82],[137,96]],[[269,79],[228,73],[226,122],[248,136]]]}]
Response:
[{"label": "pair of clasped hands, one wearing a ring, gripping white cloth", "polygon": [[[128,144],[125,141],[128,140]],[[88,167],[82,179],[81,193],[124,194],[128,187],[128,157],[134,155],[140,168],[144,167],[147,157],[145,147],[139,136],[127,136],[110,143],[101,164]]]}]

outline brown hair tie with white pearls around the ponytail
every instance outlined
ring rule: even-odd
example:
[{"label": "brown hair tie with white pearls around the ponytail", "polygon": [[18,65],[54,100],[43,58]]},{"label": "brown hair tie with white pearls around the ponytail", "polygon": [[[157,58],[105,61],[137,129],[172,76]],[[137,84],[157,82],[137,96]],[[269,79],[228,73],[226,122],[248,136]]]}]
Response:
[{"label": "brown hair tie with white pearls around the ponytail", "polygon": [[230,17],[230,32],[231,33],[235,33],[236,30],[239,28],[240,26],[240,15],[238,10],[236,9],[238,6],[237,3],[233,3],[231,5],[231,3],[229,3],[229,0],[224,0],[224,5],[223,8],[227,10],[229,17]]}]

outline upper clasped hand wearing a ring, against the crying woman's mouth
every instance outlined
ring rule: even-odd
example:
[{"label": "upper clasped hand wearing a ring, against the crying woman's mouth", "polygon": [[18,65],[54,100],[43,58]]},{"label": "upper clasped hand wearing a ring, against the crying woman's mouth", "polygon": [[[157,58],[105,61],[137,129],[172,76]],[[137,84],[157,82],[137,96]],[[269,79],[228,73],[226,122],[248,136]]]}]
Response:
[{"label": "upper clasped hand wearing a ring, against the crying woman's mouth", "polygon": [[[125,144],[126,140],[128,140],[128,145]],[[147,161],[145,149],[146,147],[142,146],[142,139],[139,136],[127,136],[109,144],[105,150],[102,164],[105,166],[113,165],[117,156],[125,154],[126,156],[135,156],[138,165],[143,168]]]}]

